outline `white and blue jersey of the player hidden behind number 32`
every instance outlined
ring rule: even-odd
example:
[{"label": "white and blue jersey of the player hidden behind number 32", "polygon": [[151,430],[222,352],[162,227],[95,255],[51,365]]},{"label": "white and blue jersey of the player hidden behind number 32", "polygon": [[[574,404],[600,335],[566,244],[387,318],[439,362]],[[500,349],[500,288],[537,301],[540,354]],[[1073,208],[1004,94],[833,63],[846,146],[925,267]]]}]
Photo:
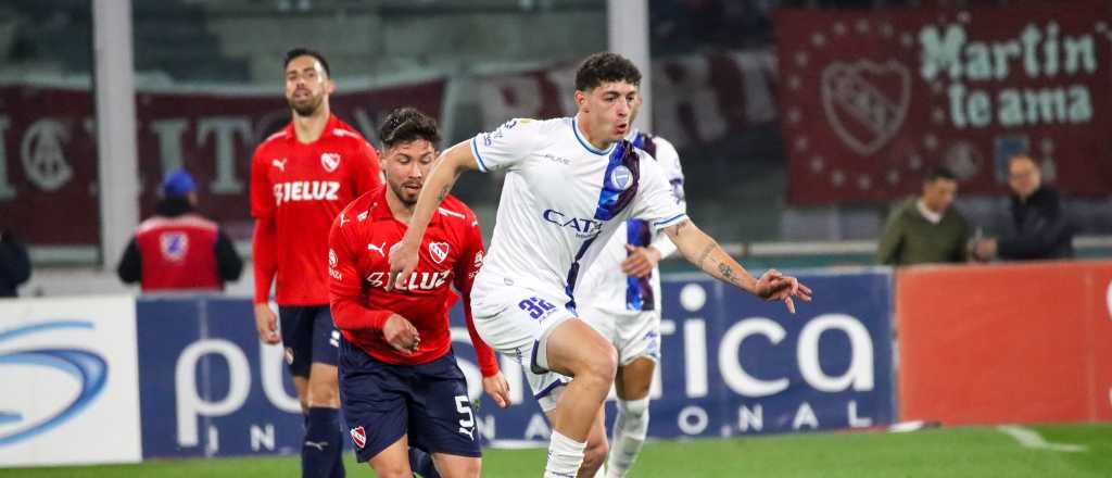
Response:
[{"label": "white and blue jersey of the player hidden behind number 32", "polygon": [[[676,152],[676,148],[664,138],[639,130],[634,130],[626,139],[656,159],[672,187],[673,200],[682,210],[686,210],[684,171],[679,165],[679,153]],[[613,313],[659,310],[659,268],[654,268],[651,276],[641,279],[622,272],[622,261],[628,257],[626,245],[652,245],[659,249],[665,257],[675,251],[675,246],[663,231],[654,230],[641,219],[626,220],[617,227],[614,236],[599,251],[590,270],[584,272],[579,286],[576,287],[578,302],[590,303],[593,308]]]}]

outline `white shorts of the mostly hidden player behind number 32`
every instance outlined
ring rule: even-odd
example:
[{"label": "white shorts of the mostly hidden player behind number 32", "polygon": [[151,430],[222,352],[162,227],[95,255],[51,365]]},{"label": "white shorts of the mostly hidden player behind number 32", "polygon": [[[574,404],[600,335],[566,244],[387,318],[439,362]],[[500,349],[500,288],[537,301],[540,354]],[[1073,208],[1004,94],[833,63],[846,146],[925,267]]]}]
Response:
[{"label": "white shorts of the mostly hidden player behind number 32", "polygon": [[593,307],[589,302],[576,303],[579,318],[614,345],[614,349],[618,352],[619,366],[629,365],[641,357],[661,361],[659,310],[615,313]]}]

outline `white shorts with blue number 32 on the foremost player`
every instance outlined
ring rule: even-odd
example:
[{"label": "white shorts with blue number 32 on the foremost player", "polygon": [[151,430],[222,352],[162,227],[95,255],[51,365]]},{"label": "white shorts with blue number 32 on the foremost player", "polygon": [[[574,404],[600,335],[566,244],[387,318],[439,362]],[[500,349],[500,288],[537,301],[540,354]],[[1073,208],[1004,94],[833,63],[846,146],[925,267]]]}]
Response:
[{"label": "white shorts with blue number 32 on the foremost player", "polygon": [[540,409],[552,411],[572,379],[554,371],[537,374],[533,365],[547,369],[543,343],[548,333],[566,320],[577,320],[564,307],[567,297],[506,283],[493,287],[490,282],[495,281],[476,281],[471,289],[475,330],[493,349],[522,365]]}]

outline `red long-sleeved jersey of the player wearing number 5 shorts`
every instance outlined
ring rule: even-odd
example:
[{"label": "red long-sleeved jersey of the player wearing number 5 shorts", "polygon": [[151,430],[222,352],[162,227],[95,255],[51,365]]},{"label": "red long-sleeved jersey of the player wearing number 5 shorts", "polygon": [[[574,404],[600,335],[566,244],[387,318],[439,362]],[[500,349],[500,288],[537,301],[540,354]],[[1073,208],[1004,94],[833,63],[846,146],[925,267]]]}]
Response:
[{"label": "red long-sleeved jersey of the player wearing number 5 shorts", "polygon": [[[470,293],[483,266],[483,237],[475,213],[448,196],[421,239],[420,262],[407,290],[386,291],[390,247],[407,226],[386,202],[386,188],[351,202],[332,222],[328,238],[332,320],[344,337],[387,364],[419,365],[444,357],[451,347],[448,309],[456,301],[449,285],[464,297],[464,317],[484,377],[498,372],[494,351],[471,323]],[[390,315],[409,320],[420,336],[416,352],[406,355],[383,336]]]}]

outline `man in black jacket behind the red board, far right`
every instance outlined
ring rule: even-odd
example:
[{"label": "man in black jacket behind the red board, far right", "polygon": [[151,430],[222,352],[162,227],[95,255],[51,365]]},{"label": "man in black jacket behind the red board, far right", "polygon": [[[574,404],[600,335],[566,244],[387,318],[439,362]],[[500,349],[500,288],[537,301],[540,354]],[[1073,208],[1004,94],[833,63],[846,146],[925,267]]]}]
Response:
[{"label": "man in black jacket behind the red board, far right", "polygon": [[1000,238],[976,241],[973,255],[987,261],[1066,259],[1073,257],[1073,225],[1056,190],[1042,183],[1035,160],[1026,155],[1007,161],[1012,188],[1010,230]]}]

